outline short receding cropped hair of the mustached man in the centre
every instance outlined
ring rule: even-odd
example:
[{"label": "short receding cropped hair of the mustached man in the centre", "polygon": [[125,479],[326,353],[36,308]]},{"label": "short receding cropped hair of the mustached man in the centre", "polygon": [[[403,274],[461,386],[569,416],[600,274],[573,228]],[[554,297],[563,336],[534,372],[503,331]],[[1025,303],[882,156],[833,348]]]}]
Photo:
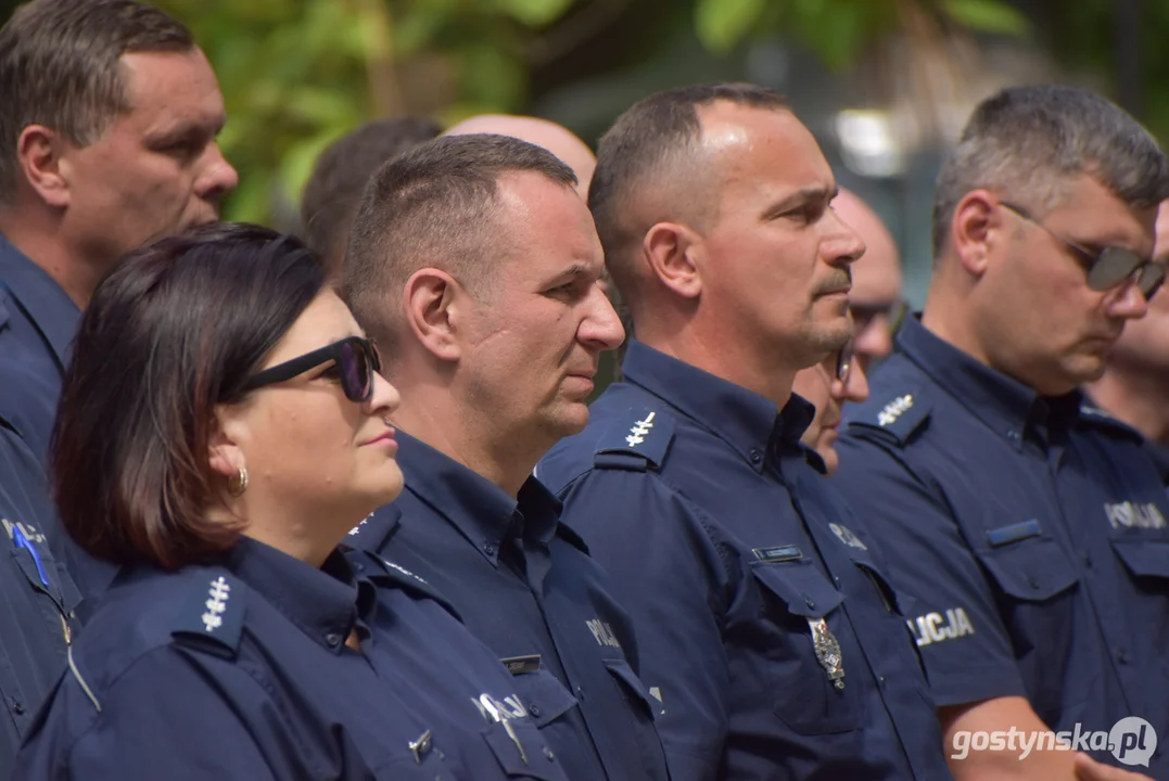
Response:
[{"label": "short receding cropped hair of the mustached man in the centre", "polygon": [[[698,110],[729,103],[763,111],[789,111],[773,90],[754,84],[698,84],[656,92],[621,114],[601,138],[588,203],[606,265],[622,299],[637,300],[632,263],[651,224],[632,207],[649,189],[677,191],[679,221],[708,211],[711,183],[699,184],[696,167],[703,125]],[[682,211],[686,209],[686,211]],[[692,225],[701,228],[701,225]]]}]

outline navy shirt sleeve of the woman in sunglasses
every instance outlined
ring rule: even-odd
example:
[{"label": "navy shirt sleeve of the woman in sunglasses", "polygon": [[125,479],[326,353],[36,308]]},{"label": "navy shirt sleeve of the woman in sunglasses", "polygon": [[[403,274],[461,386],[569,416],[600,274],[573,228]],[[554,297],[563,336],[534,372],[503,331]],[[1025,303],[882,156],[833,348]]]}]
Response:
[{"label": "navy shirt sleeve of the woman in sunglasses", "polygon": [[254,678],[230,663],[215,665],[215,675],[208,676],[182,651],[159,648],[97,697],[99,713],[77,679],[67,675],[40,730],[18,758],[14,777],[310,776],[306,768],[289,762],[296,748],[275,704]]}]

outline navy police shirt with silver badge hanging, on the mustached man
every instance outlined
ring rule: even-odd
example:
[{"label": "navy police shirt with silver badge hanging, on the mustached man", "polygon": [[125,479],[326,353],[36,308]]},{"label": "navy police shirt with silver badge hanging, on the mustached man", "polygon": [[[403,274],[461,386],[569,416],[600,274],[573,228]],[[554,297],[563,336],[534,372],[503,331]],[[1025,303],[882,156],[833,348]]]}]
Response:
[{"label": "navy police shirt with silver badge hanging, on the mustached man", "polygon": [[800,444],[811,405],[636,341],[623,372],[537,474],[636,621],[675,781],[950,777],[881,552]]}]

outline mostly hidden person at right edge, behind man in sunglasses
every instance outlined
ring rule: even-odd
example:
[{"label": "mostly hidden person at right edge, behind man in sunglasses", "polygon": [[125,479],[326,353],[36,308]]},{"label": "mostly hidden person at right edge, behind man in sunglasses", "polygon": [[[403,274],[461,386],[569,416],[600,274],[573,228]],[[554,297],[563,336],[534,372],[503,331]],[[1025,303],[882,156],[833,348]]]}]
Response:
[{"label": "mostly hidden person at right edge, behind man in sunglasses", "polygon": [[[1169,263],[1169,201],[1157,212],[1153,257]],[[1112,416],[1144,434],[1147,449],[1169,486],[1169,295],[1149,301],[1140,320],[1125,332],[1108,354],[1104,377],[1088,386],[1092,399]]]}]

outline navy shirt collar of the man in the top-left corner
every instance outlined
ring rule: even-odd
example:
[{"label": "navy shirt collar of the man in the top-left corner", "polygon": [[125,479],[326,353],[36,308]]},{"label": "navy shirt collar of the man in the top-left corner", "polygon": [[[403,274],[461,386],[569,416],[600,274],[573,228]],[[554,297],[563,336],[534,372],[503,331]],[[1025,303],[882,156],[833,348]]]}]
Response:
[{"label": "navy shirt collar of the man in the top-left corner", "polygon": [[0,294],[5,288],[41,332],[63,371],[81,311],[43,269],[0,235]]}]

